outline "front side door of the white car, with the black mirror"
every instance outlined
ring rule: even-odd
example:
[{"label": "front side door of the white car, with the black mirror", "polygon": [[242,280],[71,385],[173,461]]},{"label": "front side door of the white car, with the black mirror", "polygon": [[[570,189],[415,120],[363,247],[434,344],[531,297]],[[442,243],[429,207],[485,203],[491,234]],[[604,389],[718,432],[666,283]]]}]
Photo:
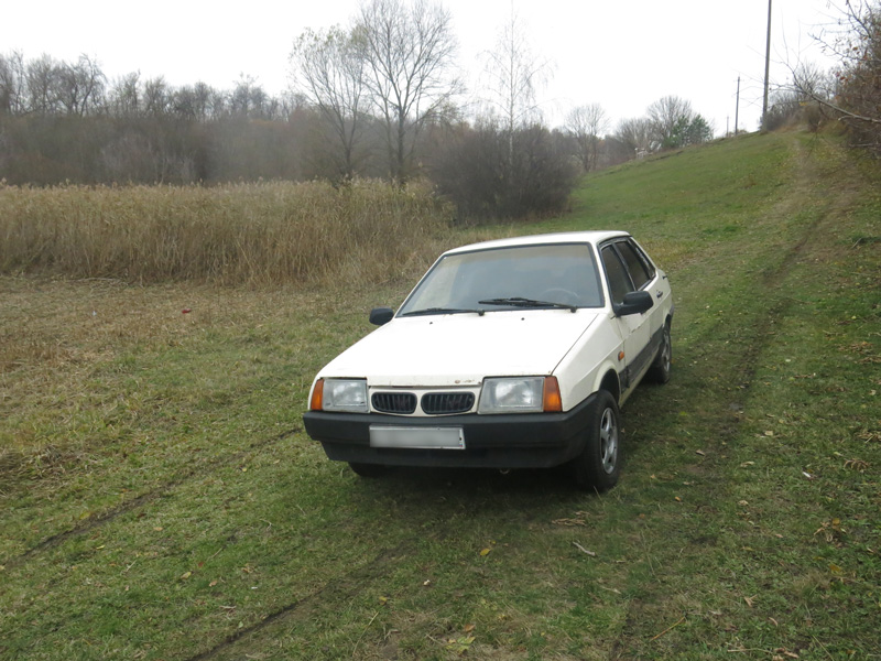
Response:
[{"label": "front side door of the white car, with the black mirror", "polygon": [[[623,304],[626,294],[642,289],[634,283],[624,257],[627,253],[626,240],[611,241],[600,248],[602,268],[606,271],[609,295],[614,310],[618,310]],[[637,282],[642,280],[642,285],[644,286],[648,284],[648,282],[644,282],[646,277],[644,269],[642,272],[638,270]],[[622,369],[619,369],[619,378],[621,379],[621,390],[624,393],[635,384],[637,379],[652,359],[650,346],[652,339],[651,313],[652,310],[645,313],[623,316],[616,314],[613,319],[623,342],[624,357],[622,359]]]}]

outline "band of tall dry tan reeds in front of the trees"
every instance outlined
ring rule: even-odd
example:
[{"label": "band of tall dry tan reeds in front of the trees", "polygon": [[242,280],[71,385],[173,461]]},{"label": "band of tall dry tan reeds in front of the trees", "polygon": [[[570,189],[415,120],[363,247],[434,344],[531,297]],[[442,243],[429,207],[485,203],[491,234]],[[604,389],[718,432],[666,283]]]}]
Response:
[{"label": "band of tall dry tan reeds in front of the trees", "polygon": [[400,277],[452,217],[427,186],[373,181],[0,185],[0,273],[222,285]]}]

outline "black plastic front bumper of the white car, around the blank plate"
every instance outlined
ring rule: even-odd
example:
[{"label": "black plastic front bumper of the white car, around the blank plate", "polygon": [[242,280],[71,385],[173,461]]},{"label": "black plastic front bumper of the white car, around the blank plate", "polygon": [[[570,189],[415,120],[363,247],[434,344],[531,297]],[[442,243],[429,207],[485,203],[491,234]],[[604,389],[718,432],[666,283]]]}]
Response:
[{"label": "black plastic front bumper of the white car, around the blank plate", "polygon": [[[564,413],[410,418],[308,411],[303,422],[306,433],[322,443],[328,458],[337,462],[453,468],[550,468],[581,453],[595,397],[591,394]],[[461,427],[465,449],[371,447],[370,425]]]}]

